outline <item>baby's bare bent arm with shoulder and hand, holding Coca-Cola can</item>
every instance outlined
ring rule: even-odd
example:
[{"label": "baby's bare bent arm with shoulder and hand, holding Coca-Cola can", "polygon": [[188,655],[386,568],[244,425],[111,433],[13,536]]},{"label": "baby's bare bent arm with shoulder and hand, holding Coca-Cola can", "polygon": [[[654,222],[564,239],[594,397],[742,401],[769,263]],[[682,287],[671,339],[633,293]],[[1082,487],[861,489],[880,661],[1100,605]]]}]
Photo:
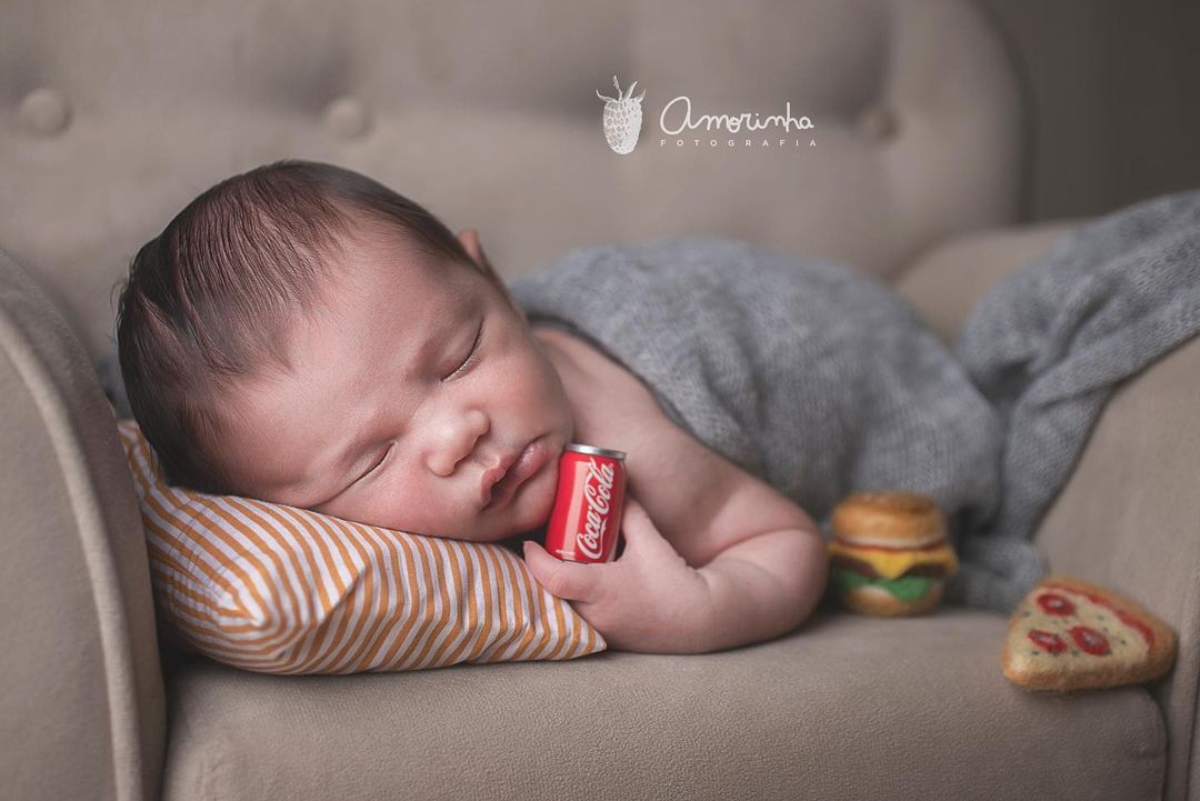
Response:
[{"label": "baby's bare bent arm with shoulder and hand, holding Coca-Cola can", "polygon": [[613,445],[629,453],[624,553],[577,565],[532,542],[538,582],[619,650],[700,654],[799,626],[826,584],[816,522],[666,417],[637,421]]}]

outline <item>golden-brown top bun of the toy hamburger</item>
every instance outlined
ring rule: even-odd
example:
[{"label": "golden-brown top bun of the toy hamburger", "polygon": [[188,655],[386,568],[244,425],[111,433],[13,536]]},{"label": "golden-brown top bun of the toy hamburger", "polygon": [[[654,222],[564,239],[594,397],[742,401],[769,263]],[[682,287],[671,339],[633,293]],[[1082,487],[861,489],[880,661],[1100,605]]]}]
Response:
[{"label": "golden-brown top bun of the toy hamburger", "polygon": [[946,516],[928,495],[854,493],[834,510],[830,528],[848,544],[923,548],[946,537]]}]

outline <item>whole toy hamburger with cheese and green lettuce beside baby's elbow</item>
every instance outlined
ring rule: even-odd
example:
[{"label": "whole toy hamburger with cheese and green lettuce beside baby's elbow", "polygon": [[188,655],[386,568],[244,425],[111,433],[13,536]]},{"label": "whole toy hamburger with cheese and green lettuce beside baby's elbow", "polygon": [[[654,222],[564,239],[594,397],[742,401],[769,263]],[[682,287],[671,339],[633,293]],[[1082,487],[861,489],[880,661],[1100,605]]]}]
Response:
[{"label": "whole toy hamburger with cheese and green lettuce beside baby's elbow", "polygon": [[928,495],[854,493],[830,522],[829,585],[865,615],[916,615],[937,606],[959,568],[946,517]]}]

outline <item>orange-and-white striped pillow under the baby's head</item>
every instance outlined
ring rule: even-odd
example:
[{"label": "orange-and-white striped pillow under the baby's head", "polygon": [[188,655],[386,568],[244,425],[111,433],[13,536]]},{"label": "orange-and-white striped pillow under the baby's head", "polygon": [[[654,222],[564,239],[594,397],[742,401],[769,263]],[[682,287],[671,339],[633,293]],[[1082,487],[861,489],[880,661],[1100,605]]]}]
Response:
[{"label": "orange-and-white striped pillow under the baby's head", "polygon": [[169,487],[137,422],[116,427],[142,501],[155,607],[185,648],[289,674],[570,660],[606,648],[505,548]]}]

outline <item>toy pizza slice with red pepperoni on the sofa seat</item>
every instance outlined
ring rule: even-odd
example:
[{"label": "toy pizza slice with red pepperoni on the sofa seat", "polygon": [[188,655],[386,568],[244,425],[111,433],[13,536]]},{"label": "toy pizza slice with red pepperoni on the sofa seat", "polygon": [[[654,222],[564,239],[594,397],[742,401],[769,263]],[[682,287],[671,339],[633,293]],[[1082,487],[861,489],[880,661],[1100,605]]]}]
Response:
[{"label": "toy pizza slice with red pepperoni on the sofa seat", "polygon": [[1018,685],[1066,692],[1157,679],[1175,651],[1175,632],[1133,601],[1050,576],[1013,613],[1001,664]]}]

